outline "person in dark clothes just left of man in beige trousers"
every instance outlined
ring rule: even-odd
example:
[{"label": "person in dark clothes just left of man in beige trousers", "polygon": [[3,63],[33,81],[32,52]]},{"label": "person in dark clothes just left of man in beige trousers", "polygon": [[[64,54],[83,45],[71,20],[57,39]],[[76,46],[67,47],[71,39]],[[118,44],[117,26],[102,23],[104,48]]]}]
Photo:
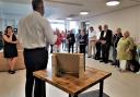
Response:
[{"label": "person in dark clothes just left of man in beige trousers", "polygon": [[79,36],[79,41],[80,41],[80,53],[85,54],[85,47],[88,45],[88,35],[85,34],[85,31],[81,31],[81,34]]}]

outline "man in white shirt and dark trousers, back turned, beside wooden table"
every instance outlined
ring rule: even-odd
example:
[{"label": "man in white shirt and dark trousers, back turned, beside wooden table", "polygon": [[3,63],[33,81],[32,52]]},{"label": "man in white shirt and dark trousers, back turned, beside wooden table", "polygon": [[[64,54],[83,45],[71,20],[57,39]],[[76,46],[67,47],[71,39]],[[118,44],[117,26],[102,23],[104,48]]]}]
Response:
[{"label": "man in white shirt and dark trousers, back turned, beside wooden table", "polygon": [[19,23],[18,38],[24,48],[26,66],[25,97],[46,97],[45,82],[33,76],[34,71],[45,70],[48,62],[46,46],[55,43],[49,22],[43,17],[44,1],[33,0],[34,12]]}]

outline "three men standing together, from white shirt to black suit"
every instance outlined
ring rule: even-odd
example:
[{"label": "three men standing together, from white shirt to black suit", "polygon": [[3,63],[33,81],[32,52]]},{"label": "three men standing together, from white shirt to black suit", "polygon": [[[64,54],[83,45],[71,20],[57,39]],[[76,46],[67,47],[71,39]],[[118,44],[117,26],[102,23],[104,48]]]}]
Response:
[{"label": "three men standing together, from white shirt to black suit", "polygon": [[95,60],[101,60],[101,62],[108,63],[112,37],[113,32],[108,29],[108,25],[104,25],[104,29],[100,25],[98,32],[95,32],[93,27],[90,27],[88,58],[92,57]]}]

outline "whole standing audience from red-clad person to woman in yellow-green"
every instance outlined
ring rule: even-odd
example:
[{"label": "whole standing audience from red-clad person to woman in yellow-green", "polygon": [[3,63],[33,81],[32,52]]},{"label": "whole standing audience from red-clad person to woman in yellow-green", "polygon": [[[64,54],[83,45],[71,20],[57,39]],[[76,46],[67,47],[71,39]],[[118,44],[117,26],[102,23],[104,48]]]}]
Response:
[{"label": "whole standing audience from red-clad person to woman in yellow-green", "polygon": [[[132,52],[135,43],[130,37],[128,31],[121,33],[121,28],[117,28],[114,33],[108,28],[108,25],[98,25],[98,31],[96,32],[93,26],[85,29],[79,29],[78,34],[74,35],[73,31],[57,32],[57,41],[55,45],[60,45],[68,50],[68,52],[80,52],[86,53],[88,58],[93,58],[100,60],[100,62],[109,62],[110,47],[113,47],[112,64],[119,65],[120,71],[127,69],[129,60],[132,60]],[[74,46],[75,45],[75,46]],[[74,50],[75,47],[75,50]]]}]

